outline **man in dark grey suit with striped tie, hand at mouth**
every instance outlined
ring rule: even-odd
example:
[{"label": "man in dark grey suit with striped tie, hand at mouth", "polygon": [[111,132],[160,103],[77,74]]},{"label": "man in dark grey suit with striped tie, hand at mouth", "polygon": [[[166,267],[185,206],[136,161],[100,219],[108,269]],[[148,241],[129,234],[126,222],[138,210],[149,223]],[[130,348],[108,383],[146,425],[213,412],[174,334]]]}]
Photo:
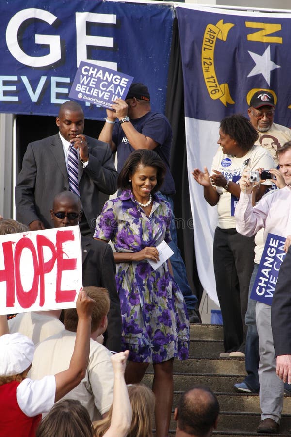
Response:
[{"label": "man in dark grey suit with striped tie, hand at mouth", "polygon": [[15,188],[17,218],[31,230],[51,227],[49,206],[54,197],[62,190],[74,191],[68,174],[73,145],[77,151],[76,190],[83,210],[80,230],[82,235],[89,235],[100,213],[99,191],[116,191],[118,174],[112,153],[109,145],[83,134],[84,113],[79,103],[63,103],[56,124],[58,134],[27,147]]}]

